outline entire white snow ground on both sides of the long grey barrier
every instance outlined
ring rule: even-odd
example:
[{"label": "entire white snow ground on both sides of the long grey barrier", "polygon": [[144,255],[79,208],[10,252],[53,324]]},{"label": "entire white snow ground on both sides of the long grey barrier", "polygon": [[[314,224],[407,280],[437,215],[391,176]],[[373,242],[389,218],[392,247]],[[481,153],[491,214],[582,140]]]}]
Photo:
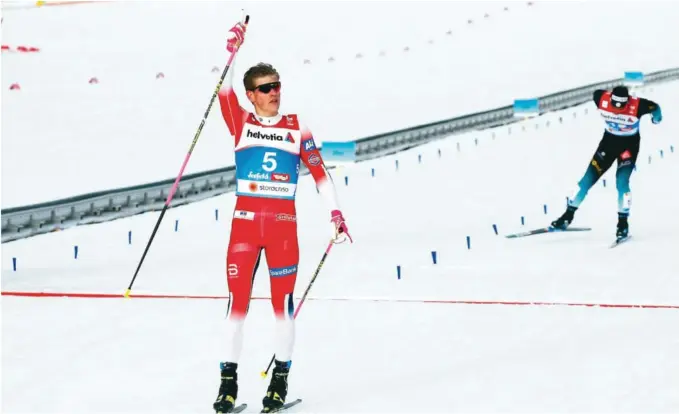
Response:
[{"label": "entire white snow ground on both sides of the long grey barrier", "polygon": [[[319,139],[344,140],[628,69],[677,65],[666,44],[679,13],[673,2],[643,9],[633,2],[615,8],[604,2],[414,4],[390,3],[385,14],[378,3],[328,3],[333,9],[323,16],[315,3],[247,3],[253,20],[237,78],[260,59],[280,62],[290,84],[285,105],[307,114]],[[235,16],[240,5],[145,2],[6,13],[3,44],[45,49],[3,54],[3,207],[176,174],[216,77],[203,68],[226,59],[220,36],[233,18],[225,16]],[[296,19],[280,19],[282,9]],[[491,16],[483,19],[488,9]],[[612,40],[611,27],[629,15],[638,30]],[[468,26],[466,17],[475,23]],[[151,18],[153,30],[142,39]],[[355,20],[338,27],[340,18]],[[186,21],[191,30],[181,30]],[[326,31],[320,28],[342,36],[321,38]],[[363,44],[364,60],[345,63],[368,28],[378,32],[373,44]],[[448,28],[452,44],[444,46]],[[80,43],[78,33],[87,34]],[[267,43],[271,33],[286,48]],[[564,33],[568,37],[556,41]],[[323,47],[300,41],[310,34]],[[413,46],[410,58],[391,55],[411,39],[431,49]],[[382,64],[381,47],[389,52]],[[192,64],[173,65],[173,50]],[[325,61],[330,51],[337,57],[332,64]],[[304,58],[313,63],[304,65]],[[49,67],[51,77],[45,80],[47,72],[35,66]],[[153,78],[161,66],[162,84]],[[102,80],[97,89],[77,86],[93,72]],[[24,88],[11,94],[6,83],[19,74]],[[64,105],[68,92],[73,101]],[[591,103],[333,170],[355,243],[333,246],[299,314],[290,397],[304,402],[291,413],[679,411],[677,93],[679,82],[639,91],[662,105],[665,119],[641,123],[631,182],[634,239],[612,250],[614,171],[577,213],[574,225],[591,232],[502,237],[561,214],[602,132]],[[231,162],[231,141],[217,115],[210,116],[190,171]],[[311,177],[302,177],[298,188],[299,300],[330,233]],[[168,210],[133,295],[227,295],[234,202],[226,194]],[[3,243],[2,291],[122,294],[157,218],[148,213]],[[239,369],[239,400],[249,412],[258,412],[267,386],[259,372],[272,352],[268,291],[264,258]],[[212,412],[226,341],[225,300],[2,296],[0,306],[3,413]]]}]

